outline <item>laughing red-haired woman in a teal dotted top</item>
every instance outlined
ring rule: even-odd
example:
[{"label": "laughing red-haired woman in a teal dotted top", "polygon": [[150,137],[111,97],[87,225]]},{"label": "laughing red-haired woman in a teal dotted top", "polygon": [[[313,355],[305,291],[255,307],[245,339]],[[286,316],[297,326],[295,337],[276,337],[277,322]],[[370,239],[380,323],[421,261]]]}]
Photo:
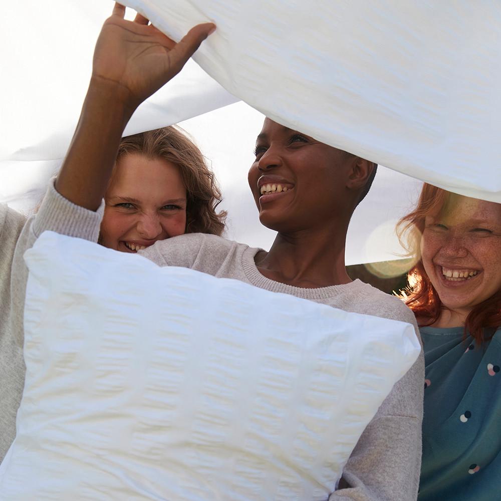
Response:
[{"label": "laughing red-haired woman in a teal dotted top", "polygon": [[499,499],[501,204],[425,184],[398,225],[425,352],[420,501]]}]

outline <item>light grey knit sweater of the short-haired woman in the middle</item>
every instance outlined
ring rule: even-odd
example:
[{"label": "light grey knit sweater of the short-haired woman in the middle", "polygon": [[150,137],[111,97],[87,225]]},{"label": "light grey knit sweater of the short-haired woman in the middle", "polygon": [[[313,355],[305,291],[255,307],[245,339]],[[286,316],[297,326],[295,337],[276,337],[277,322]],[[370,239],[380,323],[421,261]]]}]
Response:
[{"label": "light grey knit sweater of the short-haired woman in the middle", "polygon": [[[12,273],[20,287],[14,294],[12,322],[7,333],[9,345],[17,348],[17,358],[9,361],[11,370],[5,393],[12,394],[15,409],[0,410],[0,423],[12,419],[21,399],[24,363],[19,358],[23,343],[23,308],[27,270],[24,251],[45,230],[57,231],[97,241],[102,207],[88,211],[64,199],[53,186],[35,218],[26,225],[16,248]],[[262,289],[292,294],[350,312],[401,320],[415,326],[411,311],[398,299],[383,294],[360,281],[351,284],[303,289],[270,280],[259,272],[254,256],[260,249],[205,234],[181,235],[157,242],[141,252],[159,266],[182,266],[216,277],[241,280]],[[416,327],[417,332],[417,327]],[[2,355],[4,363],[4,356]],[[330,501],[412,501],[417,497],[421,462],[421,420],[424,363],[422,354],[408,373],[393,387],[369,423],[343,471],[343,484]],[[2,406],[3,407],[3,406]],[[3,449],[13,440],[12,426],[0,430]],[[7,433],[7,434],[6,434]]]}]

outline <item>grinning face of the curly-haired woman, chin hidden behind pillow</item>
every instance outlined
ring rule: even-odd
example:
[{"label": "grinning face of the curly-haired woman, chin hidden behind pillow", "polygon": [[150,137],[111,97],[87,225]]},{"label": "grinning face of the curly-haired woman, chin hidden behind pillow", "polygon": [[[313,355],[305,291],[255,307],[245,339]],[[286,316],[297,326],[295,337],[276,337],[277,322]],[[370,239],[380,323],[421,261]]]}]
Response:
[{"label": "grinning face of the curly-haired woman, chin hidden behind pillow", "polygon": [[135,253],[184,233],[186,188],[179,168],[140,153],[122,157],[106,191],[100,243]]}]

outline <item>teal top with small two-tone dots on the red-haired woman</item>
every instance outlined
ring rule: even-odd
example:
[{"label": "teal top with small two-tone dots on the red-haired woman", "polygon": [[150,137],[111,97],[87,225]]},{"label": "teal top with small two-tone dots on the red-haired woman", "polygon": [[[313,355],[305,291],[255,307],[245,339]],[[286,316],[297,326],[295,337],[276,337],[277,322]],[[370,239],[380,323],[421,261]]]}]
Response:
[{"label": "teal top with small two-tone dots on the red-haired woman", "polygon": [[424,344],[419,501],[501,499],[501,329],[483,345],[462,327],[420,329]]}]

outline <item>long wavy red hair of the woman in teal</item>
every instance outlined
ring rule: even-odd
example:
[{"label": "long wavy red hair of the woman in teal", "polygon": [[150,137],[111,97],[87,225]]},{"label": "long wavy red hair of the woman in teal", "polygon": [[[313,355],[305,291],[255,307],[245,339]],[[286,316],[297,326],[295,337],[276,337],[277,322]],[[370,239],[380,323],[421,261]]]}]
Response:
[{"label": "long wavy red hair of the woman in teal", "polygon": [[[398,239],[408,255],[418,258],[407,274],[408,286],[399,297],[414,312],[420,327],[436,322],[441,309],[445,308],[424,270],[420,255],[424,220],[428,215],[438,214],[451,195],[449,191],[424,183],[416,208],[402,217],[396,227]],[[483,343],[500,326],[501,289],[469,312],[464,323],[464,334],[466,336],[469,333],[475,341]]]}]

